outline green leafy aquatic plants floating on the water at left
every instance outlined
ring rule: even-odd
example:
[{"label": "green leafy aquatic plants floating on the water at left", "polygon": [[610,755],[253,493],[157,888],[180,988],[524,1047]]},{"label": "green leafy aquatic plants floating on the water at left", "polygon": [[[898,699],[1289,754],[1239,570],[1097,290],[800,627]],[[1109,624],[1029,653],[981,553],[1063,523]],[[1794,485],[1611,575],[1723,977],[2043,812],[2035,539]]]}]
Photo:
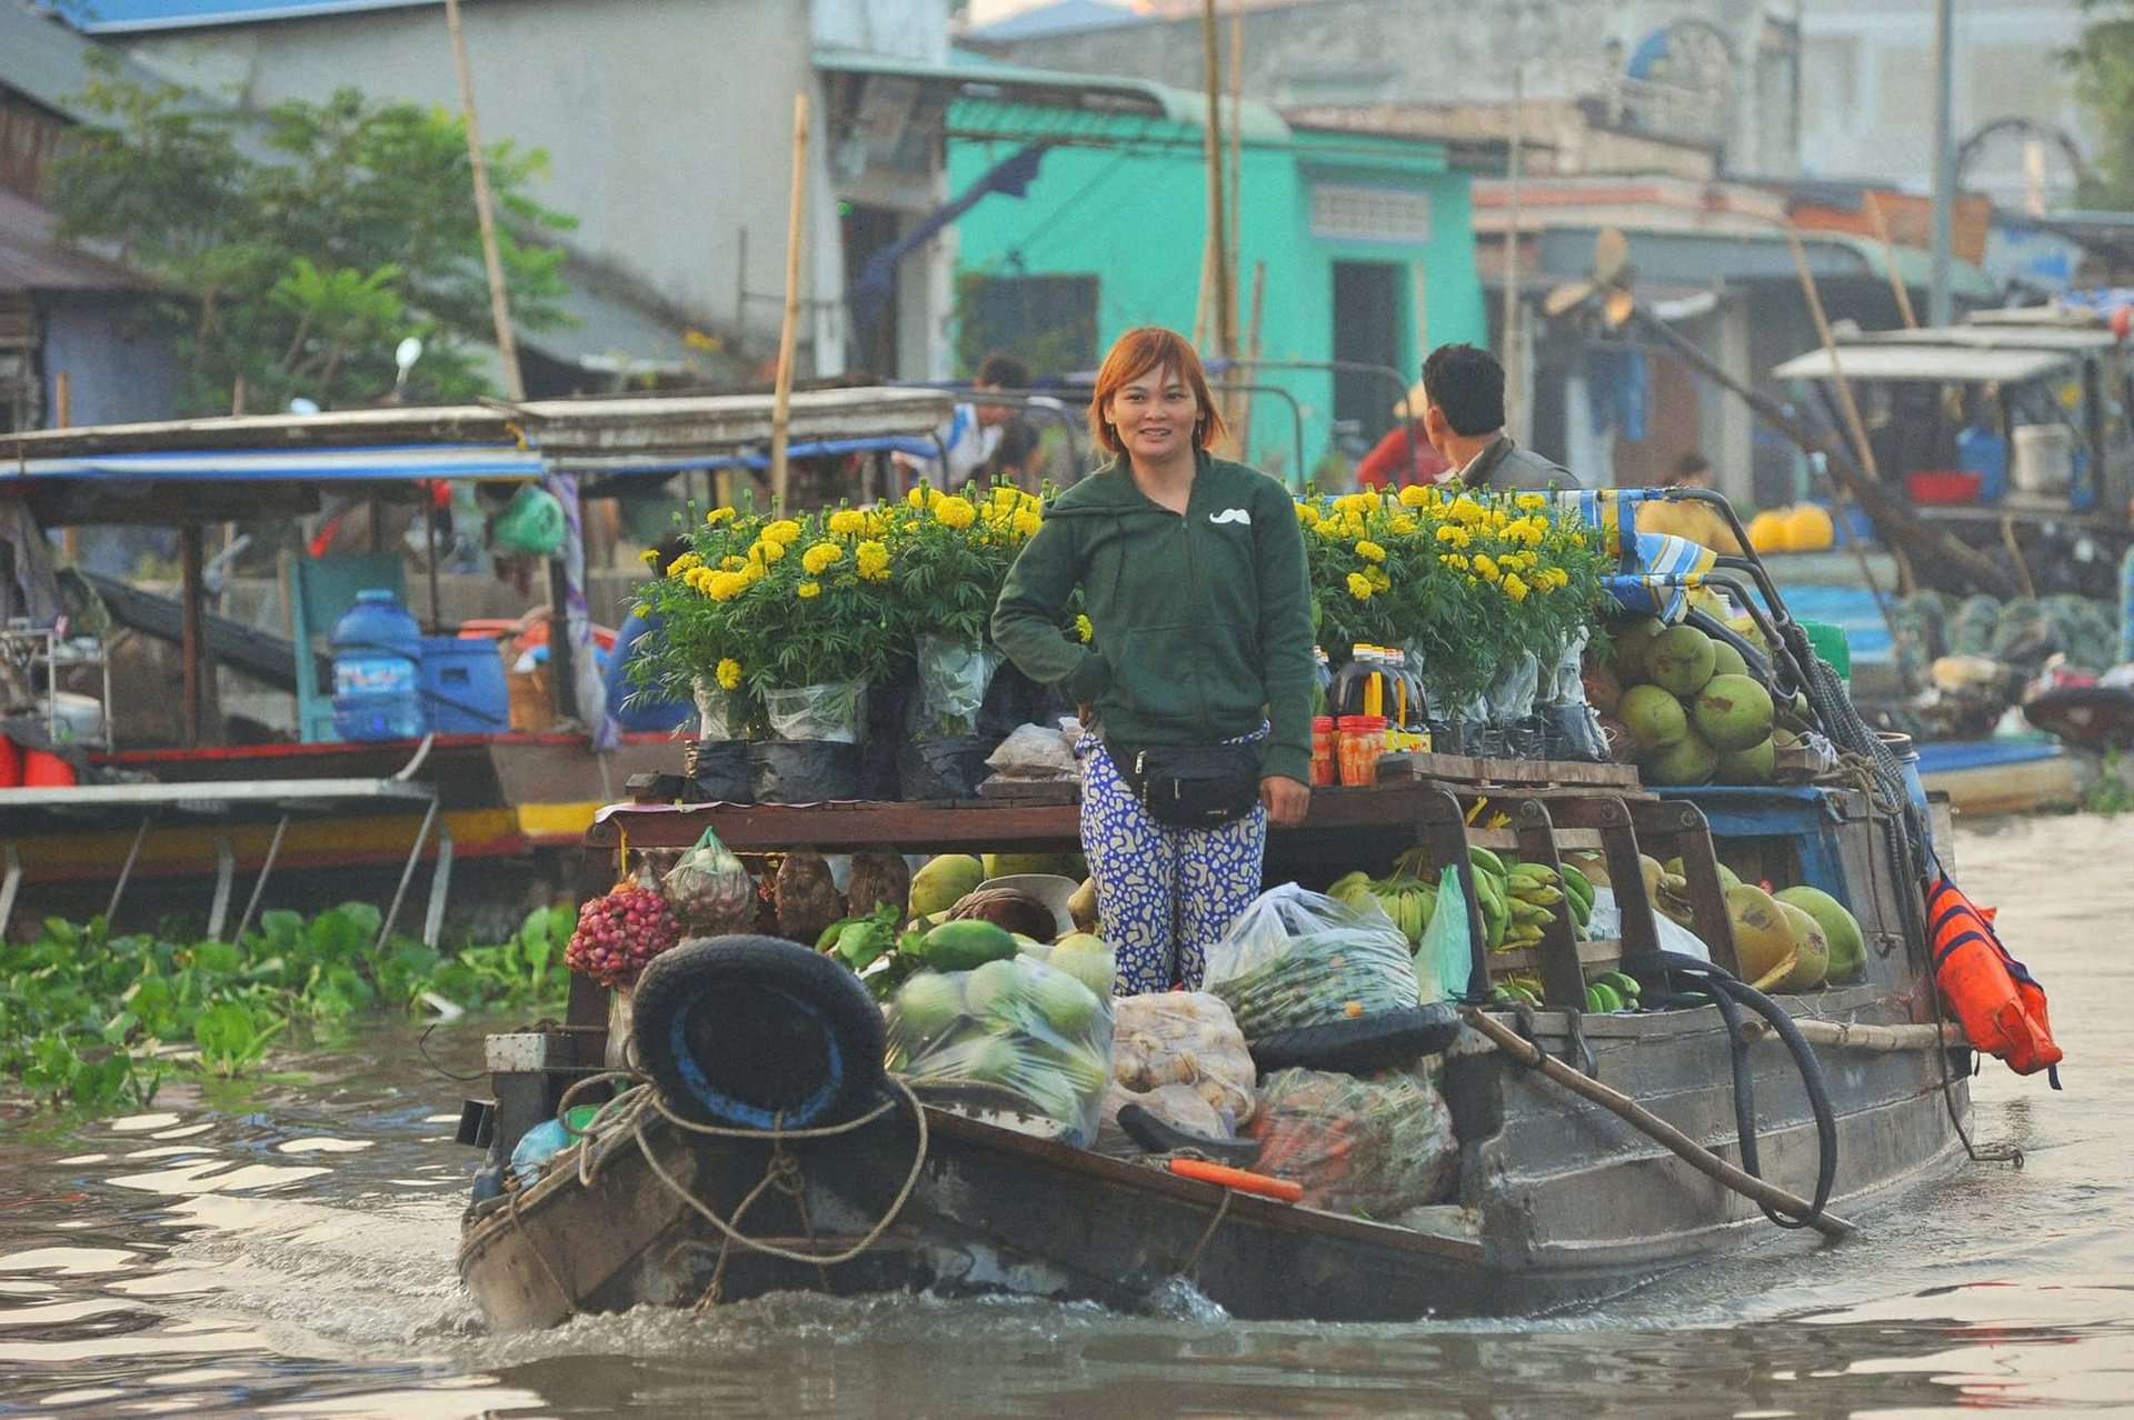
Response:
[{"label": "green leafy aquatic plants floating on the water at left", "polygon": [[230,1079],[256,1070],[290,1026],[337,1036],[363,1011],[442,998],[465,1011],[559,1008],[553,970],[574,921],[531,910],[501,945],[440,951],[378,940],[378,908],[344,902],[309,921],[267,913],[243,942],[111,936],[102,917],[58,917],[26,942],[0,942],[0,1107],[19,1085],[36,1109],[145,1107],[179,1070]]}]

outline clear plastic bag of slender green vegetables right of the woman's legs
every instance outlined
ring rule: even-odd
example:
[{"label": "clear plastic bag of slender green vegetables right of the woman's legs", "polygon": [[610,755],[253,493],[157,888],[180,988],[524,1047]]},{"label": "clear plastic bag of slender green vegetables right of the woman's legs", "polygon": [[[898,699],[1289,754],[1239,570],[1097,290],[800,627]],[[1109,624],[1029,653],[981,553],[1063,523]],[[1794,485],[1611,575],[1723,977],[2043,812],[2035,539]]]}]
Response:
[{"label": "clear plastic bag of slender green vegetables right of the woman's legs", "polygon": [[1253,1040],[1415,1004],[1408,938],[1372,902],[1270,887],[1208,949],[1206,987]]}]

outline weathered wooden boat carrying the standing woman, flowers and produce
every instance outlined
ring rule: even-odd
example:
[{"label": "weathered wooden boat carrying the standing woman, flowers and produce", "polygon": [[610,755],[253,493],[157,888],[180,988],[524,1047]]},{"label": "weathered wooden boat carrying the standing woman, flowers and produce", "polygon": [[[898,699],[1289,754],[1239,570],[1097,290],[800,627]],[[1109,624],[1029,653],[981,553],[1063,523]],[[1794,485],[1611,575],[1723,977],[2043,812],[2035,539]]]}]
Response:
[{"label": "weathered wooden boat carrying the standing woman, flowers and produce", "polygon": [[[1272,836],[1270,881],[1383,870],[1411,842],[1436,844],[1434,853],[1460,844],[1460,861],[1468,842],[1517,849],[1530,861],[1598,846],[1611,864],[1630,864],[1628,878],[1615,874],[1633,883],[1622,893],[1624,940],[1577,945],[1551,927],[1556,940],[1522,962],[1560,994],[1566,970],[1581,981],[1581,964],[1654,945],[1635,872],[1641,844],[1684,857],[1699,934],[1720,964],[1731,959],[1711,849],[1718,834],[1733,861],[1784,864],[1827,885],[1874,942],[1861,985],[1780,998],[1801,1019],[1895,1026],[1880,1034],[1884,1045],[1901,1043],[1818,1051],[1835,1126],[1829,1209],[1863,1209],[1963,1160],[1968,1053],[1942,1045],[1933,996],[1921,989],[1923,942],[1895,913],[1893,823],[1867,795],[1812,787],[1660,800],[1622,785],[1430,778],[1436,768],[1417,765],[1411,782],[1315,793],[1310,819]],[[1526,768],[1536,778],[1551,772]],[[1579,770],[1598,768],[1564,765],[1562,774]],[[1477,800],[1513,825],[1464,827]],[[706,823],[740,853],[881,842],[969,851],[1067,844],[1076,812],[1061,804],[634,804],[606,810],[589,844],[610,849],[623,836],[642,846],[687,844]],[[1729,1030],[1711,1004],[1637,1015],[1543,1008],[1530,1030],[1549,1053],[1739,1162]],[[563,1028],[495,1036],[493,1134],[480,1136],[472,1122],[484,1115],[476,1113],[463,1139],[508,1156],[606,1051],[589,991]],[[1793,1062],[1773,1045],[1750,1047],[1750,1079],[1765,1173],[1805,1188],[1816,1177],[1818,1132]],[[969,1092],[922,1094],[918,1111],[901,1104],[834,1136],[790,1141],[700,1134],[640,1104],[627,1128],[595,1130],[531,1188],[469,1209],[459,1271],[484,1316],[508,1328],[787,1288],[1001,1290],[1131,1309],[1159,1305],[1180,1281],[1240,1318],[1404,1320],[1607,1294],[1773,1232],[1756,1205],[1472,1032],[1449,1055],[1445,1094],[1460,1136],[1455,1194],[1391,1220],[1174,1177],[1161,1158],[1101,1158],[1041,1136],[1044,1126],[1012,1100]]]}]

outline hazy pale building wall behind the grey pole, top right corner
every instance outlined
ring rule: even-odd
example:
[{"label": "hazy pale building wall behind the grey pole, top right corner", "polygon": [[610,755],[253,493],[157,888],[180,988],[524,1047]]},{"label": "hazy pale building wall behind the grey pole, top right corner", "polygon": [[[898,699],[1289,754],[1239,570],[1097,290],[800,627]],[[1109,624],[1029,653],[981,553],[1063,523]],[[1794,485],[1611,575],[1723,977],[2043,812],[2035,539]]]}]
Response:
[{"label": "hazy pale building wall behind the grey pole, top right corner", "polygon": [[[1961,0],[1955,6],[1955,143],[2002,117],[2066,132],[2087,156],[2093,119],[2055,55],[2083,30],[2079,0]],[[2023,207],[2021,145],[1989,149],[1968,185]],[[2051,156],[2049,177],[2066,175]],[[1810,177],[1933,181],[1933,2],[1801,0],[1801,171]],[[2055,181],[2053,205],[2068,205]]]}]

